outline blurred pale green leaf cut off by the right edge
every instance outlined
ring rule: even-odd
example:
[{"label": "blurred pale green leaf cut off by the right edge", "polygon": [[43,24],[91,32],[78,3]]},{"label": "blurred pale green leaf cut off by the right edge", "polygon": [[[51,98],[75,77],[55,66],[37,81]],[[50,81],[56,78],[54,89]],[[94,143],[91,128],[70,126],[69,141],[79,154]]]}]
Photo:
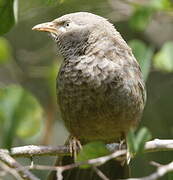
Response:
[{"label": "blurred pale green leaf cut off by the right edge", "polygon": [[166,42],[153,60],[156,69],[173,72],[173,42]]}]

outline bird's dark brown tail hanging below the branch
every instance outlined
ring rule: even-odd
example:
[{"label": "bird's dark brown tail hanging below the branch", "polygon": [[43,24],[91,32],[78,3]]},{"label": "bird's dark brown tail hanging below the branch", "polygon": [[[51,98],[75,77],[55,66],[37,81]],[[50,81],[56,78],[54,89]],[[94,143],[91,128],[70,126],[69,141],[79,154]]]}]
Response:
[{"label": "bird's dark brown tail hanging below the branch", "polygon": [[[56,165],[68,165],[74,163],[71,156],[60,157],[57,160]],[[129,167],[127,165],[121,165],[121,162],[116,160],[110,160],[109,162],[101,165],[98,169],[109,180],[123,179],[129,177]],[[101,180],[102,178],[95,172],[93,168],[81,169],[74,168],[63,172],[64,180]],[[57,180],[56,172],[50,173],[48,180]]]}]

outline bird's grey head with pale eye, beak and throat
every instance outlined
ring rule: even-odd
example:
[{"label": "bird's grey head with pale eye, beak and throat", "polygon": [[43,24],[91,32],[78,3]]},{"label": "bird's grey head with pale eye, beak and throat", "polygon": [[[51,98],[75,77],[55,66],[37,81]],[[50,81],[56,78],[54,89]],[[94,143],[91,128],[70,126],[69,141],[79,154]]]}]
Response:
[{"label": "bird's grey head with pale eye, beak and throat", "polygon": [[102,34],[107,34],[106,32],[110,32],[112,28],[112,24],[100,16],[77,12],[38,24],[32,29],[49,32],[57,42],[60,52],[65,56],[84,53],[88,43],[91,44],[101,38]]}]

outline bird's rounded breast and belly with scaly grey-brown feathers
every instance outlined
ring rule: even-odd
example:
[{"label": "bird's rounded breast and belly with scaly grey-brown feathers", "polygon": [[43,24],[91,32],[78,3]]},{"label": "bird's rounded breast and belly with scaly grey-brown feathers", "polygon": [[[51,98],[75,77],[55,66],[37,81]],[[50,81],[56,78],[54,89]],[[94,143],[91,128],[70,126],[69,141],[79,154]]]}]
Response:
[{"label": "bird's rounded breast and belly with scaly grey-brown feathers", "polygon": [[107,133],[109,140],[136,124],[144,102],[138,80],[131,77],[135,70],[130,71],[127,76],[121,64],[94,56],[64,62],[57,93],[62,118],[72,134],[104,140]]}]

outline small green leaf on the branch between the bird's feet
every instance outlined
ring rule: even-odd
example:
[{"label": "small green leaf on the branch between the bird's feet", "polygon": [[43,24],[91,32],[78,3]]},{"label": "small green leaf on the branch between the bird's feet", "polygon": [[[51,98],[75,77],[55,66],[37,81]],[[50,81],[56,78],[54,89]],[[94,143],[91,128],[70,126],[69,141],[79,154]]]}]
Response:
[{"label": "small green leaf on the branch between the bird's feet", "polygon": [[[87,161],[89,159],[98,158],[108,155],[110,152],[102,142],[91,142],[83,146],[77,155],[77,162]],[[89,165],[82,165],[81,168],[89,168]]]}]

